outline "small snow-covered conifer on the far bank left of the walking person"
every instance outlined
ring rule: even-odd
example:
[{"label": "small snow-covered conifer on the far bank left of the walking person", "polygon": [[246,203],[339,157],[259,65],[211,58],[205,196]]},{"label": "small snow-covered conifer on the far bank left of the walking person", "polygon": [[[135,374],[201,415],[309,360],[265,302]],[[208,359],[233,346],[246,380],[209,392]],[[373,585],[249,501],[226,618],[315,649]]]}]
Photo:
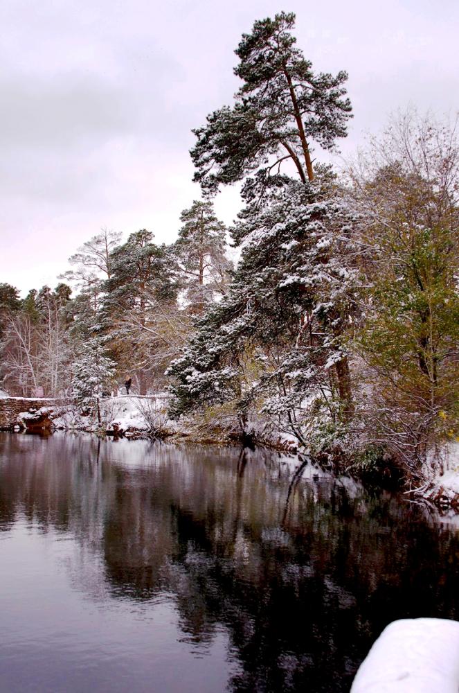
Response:
[{"label": "small snow-covered conifer on the far bank left of the walking person", "polygon": [[102,393],[111,389],[115,362],[107,356],[100,339],[92,337],[82,346],[80,356],[73,362],[73,398],[81,407],[96,405],[100,423],[99,401]]}]

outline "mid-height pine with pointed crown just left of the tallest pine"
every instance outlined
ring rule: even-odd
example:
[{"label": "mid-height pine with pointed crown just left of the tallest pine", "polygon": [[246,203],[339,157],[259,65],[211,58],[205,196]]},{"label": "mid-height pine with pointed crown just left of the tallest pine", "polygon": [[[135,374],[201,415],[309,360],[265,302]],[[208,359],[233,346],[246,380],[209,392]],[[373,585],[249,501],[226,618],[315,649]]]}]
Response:
[{"label": "mid-height pine with pointed crown just left of the tallest pine", "polygon": [[183,226],[172,252],[183,277],[188,310],[199,314],[228,287],[231,262],[226,257],[226,228],[209,201],[195,200],[180,220]]}]

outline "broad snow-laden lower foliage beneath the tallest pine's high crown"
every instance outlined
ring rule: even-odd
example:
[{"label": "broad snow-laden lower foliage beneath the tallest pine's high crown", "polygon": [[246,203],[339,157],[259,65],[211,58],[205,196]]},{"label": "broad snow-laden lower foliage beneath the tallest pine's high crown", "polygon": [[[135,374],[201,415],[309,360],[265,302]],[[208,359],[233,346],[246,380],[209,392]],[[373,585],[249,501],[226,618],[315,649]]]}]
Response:
[{"label": "broad snow-laden lower foliage beneath the tallest pine's high crown", "polygon": [[348,379],[336,365],[357,313],[353,218],[319,179],[290,180],[269,198],[241,215],[233,283],[168,371],[177,380],[174,414],[233,401],[242,426],[258,407],[310,441],[313,428],[336,435],[350,414],[341,390]]}]

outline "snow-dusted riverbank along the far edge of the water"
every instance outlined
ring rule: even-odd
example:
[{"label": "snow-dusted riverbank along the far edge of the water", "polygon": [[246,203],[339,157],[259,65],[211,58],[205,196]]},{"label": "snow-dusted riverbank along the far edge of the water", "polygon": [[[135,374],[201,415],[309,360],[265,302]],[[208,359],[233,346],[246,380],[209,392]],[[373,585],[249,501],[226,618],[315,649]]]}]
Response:
[{"label": "snow-dusted riverbank along the far edge of the water", "polygon": [[[211,421],[203,425],[193,419],[174,421],[168,416],[168,393],[154,396],[120,395],[99,401],[98,414],[82,411],[71,401],[27,398],[0,399],[1,426],[3,430],[29,432],[89,432],[96,435],[127,439],[168,439],[171,442],[186,440],[199,445],[243,444],[296,454],[300,450],[298,440],[276,430],[254,429],[251,434],[241,432],[237,426],[217,426]],[[24,411],[19,411],[21,408]],[[9,417],[9,418],[8,418]],[[321,464],[319,462],[319,464]],[[342,469],[340,471],[343,471]],[[352,476],[363,478],[368,471],[352,464],[348,470]],[[387,469],[379,469],[370,484],[385,486]],[[395,486],[397,481],[391,482]],[[448,446],[442,467],[426,468],[424,483],[405,491],[407,498],[422,500],[441,509],[453,509],[459,513],[459,444]]]}]

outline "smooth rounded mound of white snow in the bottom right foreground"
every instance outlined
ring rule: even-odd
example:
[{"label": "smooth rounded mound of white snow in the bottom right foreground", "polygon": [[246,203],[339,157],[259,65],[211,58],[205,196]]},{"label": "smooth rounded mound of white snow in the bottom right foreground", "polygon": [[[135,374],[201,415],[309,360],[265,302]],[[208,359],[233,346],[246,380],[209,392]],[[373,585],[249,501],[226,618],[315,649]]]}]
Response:
[{"label": "smooth rounded mound of white snow in the bottom right foreground", "polygon": [[351,693],[458,693],[459,622],[394,621],[373,644]]}]

